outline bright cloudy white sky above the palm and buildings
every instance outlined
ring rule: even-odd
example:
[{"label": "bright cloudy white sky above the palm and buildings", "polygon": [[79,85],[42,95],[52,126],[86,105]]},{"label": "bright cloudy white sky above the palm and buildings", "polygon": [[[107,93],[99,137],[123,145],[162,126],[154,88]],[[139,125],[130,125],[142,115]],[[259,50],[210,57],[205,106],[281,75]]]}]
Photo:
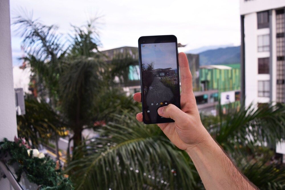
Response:
[{"label": "bright cloudy white sky above the palm and buildings", "polygon": [[[46,25],[56,24],[58,32],[72,31],[70,24],[82,26],[100,17],[97,28],[99,50],[122,46],[137,47],[140,36],[173,34],[179,51],[202,46],[240,45],[239,0],[188,1],[97,1],[97,0],[10,0],[11,23],[15,17],[33,13]],[[11,26],[13,65],[21,62],[21,38]]]}]

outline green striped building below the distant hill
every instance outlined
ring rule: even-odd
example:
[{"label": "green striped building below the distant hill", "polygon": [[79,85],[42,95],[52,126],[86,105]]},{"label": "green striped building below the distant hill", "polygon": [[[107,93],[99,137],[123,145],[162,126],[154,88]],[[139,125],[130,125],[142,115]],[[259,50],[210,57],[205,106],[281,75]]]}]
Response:
[{"label": "green striped building below the distant hill", "polygon": [[225,91],[241,88],[240,64],[203,65],[199,70],[200,91],[218,90],[218,96]]}]

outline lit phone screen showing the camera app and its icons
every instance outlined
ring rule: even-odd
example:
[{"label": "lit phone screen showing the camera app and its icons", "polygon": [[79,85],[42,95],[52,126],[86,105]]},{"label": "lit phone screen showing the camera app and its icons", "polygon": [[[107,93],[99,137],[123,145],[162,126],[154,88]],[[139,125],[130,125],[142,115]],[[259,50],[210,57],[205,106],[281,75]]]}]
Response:
[{"label": "lit phone screen showing the camera app and its icons", "polygon": [[160,120],[157,109],[179,105],[176,44],[141,44],[142,86],[146,120]]}]

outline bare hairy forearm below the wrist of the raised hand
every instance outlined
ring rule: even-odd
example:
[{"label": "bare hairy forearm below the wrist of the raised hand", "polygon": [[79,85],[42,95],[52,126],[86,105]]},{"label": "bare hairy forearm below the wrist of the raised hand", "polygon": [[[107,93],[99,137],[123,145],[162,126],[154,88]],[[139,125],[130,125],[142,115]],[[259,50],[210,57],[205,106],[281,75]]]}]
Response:
[{"label": "bare hairy forearm below the wrist of the raised hand", "polygon": [[234,166],[210,135],[186,149],[206,189],[256,189]]}]

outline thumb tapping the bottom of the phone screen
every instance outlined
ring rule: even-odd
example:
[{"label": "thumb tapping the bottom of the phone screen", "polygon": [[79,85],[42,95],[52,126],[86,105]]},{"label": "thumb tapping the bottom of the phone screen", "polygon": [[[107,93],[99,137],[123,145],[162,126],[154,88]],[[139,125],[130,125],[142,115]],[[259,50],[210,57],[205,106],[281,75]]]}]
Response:
[{"label": "thumb tapping the bottom of the phone screen", "polygon": [[157,113],[162,117],[171,118],[177,122],[182,122],[187,118],[187,114],[173,104],[158,108]]}]

